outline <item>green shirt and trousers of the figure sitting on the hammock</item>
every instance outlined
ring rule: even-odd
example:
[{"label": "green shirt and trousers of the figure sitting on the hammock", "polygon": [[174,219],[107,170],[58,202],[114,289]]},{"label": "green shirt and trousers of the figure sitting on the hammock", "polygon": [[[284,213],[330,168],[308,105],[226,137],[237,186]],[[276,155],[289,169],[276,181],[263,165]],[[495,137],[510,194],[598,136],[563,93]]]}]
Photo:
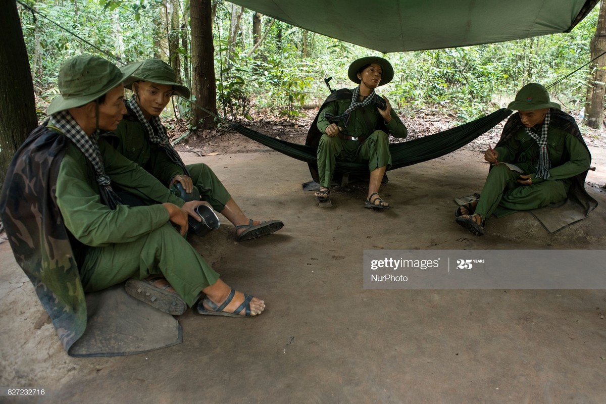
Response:
[{"label": "green shirt and trousers of the figure sitting on the hammock", "polygon": [[[342,90],[339,90],[342,91]],[[318,115],[318,130],[324,133],[331,122],[325,118],[326,113],[339,116],[351,105],[350,98],[336,99],[322,107]],[[342,131],[338,136],[330,137],[322,134],[318,144],[318,174],[321,187],[330,187],[336,167],[336,159],[347,162],[368,162],[368,171],[377,167],[391,167],[389,139],[386,133],[394,137],[406,137],[408,130],[392,109],[391,121],[385,123],[375,105],[356,108],[351,111],[347,127],[344,122],[338,122]],[[351,139],[357,138],[357,140]]]}]

